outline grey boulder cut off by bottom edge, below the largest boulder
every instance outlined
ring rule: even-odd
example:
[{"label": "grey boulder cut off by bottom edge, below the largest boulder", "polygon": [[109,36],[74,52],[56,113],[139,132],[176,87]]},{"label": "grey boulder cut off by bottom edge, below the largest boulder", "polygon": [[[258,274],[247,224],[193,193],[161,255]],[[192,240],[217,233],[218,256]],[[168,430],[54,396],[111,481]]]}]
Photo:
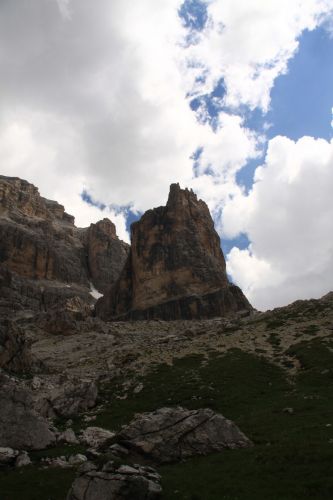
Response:
[{"label": "grey boulder cut off by bottom edge, below the largest boulder", "polygon": [[67,500],[157,500],[160,477],[150,467],[106,464],[103,471],[91,471],[77,478]]}]

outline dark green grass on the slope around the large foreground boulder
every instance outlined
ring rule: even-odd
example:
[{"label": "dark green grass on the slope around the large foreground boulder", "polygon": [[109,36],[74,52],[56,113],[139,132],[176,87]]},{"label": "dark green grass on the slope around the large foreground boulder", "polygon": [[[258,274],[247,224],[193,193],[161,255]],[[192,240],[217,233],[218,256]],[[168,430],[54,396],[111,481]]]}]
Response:
[{"label": "dark green grass on the slope around the large foreground boulder", "polygon": [[[255,446],[162,467],[165,500],[331,499],[333,354],[316,340],[291,351],[304,367],[296,380],[240,350],[158,366],[127,399],[117,398],[120,381],[105,388],[109,402],[94,425],[115,429],[136,412],[167,405],[210,407],[234,420]],[[22,491],[25,500],[64,500],[72,477],[70,470],[3,473],[0,500],[22,500]]]}]

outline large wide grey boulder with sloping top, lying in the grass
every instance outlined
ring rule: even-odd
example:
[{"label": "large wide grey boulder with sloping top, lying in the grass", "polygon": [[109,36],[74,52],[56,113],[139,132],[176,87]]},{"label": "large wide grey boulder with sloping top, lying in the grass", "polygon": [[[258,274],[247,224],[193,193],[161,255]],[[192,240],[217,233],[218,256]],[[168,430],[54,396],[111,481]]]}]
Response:
[{"label": "large wide grey boulder with sloping top, lying in the grass", "polygon": [[160,464],[252,445],[238,427],[222,415],[210,409],[181,407],[138,415],[115,440],[132,453]]}]

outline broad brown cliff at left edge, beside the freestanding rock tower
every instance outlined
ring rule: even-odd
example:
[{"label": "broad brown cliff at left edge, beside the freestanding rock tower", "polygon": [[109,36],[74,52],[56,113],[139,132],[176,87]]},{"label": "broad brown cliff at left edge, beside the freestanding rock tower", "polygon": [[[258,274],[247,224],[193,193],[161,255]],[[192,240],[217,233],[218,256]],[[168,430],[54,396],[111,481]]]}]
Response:
[{"label": "broad brown cliff at left edge, beside the freestanding rock tower", "polygon": [[72,298],[91,306],[90,283],[112,285],[128,248],[108,219],[78,229],[35,186],[0,176],[0,314],[67,309]]}]

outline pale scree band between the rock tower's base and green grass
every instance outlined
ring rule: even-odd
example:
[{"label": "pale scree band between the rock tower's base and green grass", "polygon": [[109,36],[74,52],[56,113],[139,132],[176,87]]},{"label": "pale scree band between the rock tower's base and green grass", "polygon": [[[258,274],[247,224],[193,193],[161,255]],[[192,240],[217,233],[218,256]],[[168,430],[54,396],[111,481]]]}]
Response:
[{"label": "pale scree band between the rock tower's base and green grass", "polygon": [[191,354],[209,356],[239,348],[263,356],[290,375],[300,368],[289,348],[333,336],[333,293],[321,300],[245,317],[192,321],[132,321],[84,326],[75,335],[54,336],[31,327],[32,353],[51,372],[106,379],[146,373],[155,364],[172,364]]}]

